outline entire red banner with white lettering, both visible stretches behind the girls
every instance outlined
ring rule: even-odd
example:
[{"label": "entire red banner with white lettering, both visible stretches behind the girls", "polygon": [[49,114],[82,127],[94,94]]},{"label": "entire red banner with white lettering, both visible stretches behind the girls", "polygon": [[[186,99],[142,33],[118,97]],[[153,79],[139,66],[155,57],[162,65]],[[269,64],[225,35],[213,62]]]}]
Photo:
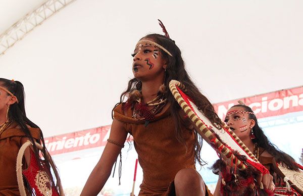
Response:
[{"label": "entire red banner with white lettering, both visible stretches behind the girls", "polygon": [[[249,106],[257,118],[303,111],[303,86],[214,104],[219,117],[223,119],[227,110],[238,104],[238,100]],[[51,155],[104,146],[109,138],[110,127],[108,125],[48,137],[45,138],[45,145]]]}]

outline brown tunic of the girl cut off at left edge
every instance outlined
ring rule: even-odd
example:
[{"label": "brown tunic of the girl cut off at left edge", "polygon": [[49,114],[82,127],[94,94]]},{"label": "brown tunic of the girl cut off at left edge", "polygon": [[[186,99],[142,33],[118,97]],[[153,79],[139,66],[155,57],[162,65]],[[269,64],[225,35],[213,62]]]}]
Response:
[{"label": "brown tunic of the girl cut off at left edge", "polygon": [[[39,139],[41,130],[29,128],[33,138]],[[0,136],[0,195],[20,195],[16,174],[16,163],[21,139],[26,137],[25,133],[17,124],[5,130]]]}]

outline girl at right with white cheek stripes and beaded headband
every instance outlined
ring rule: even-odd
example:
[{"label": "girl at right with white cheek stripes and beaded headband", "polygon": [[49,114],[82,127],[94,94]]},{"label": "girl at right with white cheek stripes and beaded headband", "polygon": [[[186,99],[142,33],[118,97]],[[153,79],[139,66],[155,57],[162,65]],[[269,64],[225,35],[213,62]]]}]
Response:
[{"label": "girl at right with white cheek stripes and beaded headband", "polygon": [[[273,159],[277,163],[283,163],[287,168],[298,171],[298,165],[294,159],[286,153],[280,151],[272,144],[263,130],[258,125],[258,120],[255,113],[245,105],[235,105],[231,107],[225,117],[225,123],[229,128],[241,139],[255,157],[263,164],[273,176],[273,179],[268,179],[271,183],[269,188],[280,195],[297,195],[291,192],[286,192],[286,184],[283,178],[274,170]],[[222,175],[219,175],[216,194],[219,194]],[[281,192],[282,191],[282,192]],[[283,192],[285,194],[283,194]],[[215,194],[215,195],[216,195]]]}]

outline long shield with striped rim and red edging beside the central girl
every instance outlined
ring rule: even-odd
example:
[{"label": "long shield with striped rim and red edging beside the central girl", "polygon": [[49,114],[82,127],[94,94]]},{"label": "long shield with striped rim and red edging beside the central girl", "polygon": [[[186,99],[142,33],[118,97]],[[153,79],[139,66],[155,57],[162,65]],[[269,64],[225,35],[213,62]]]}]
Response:
[{"label": "long shield with striped rim and red edging beside the central girl", "polygon": [[[269,173],[224,122],[222,122],[222,128],[218,129],[197,109],[192,99],[186,95],[186,89],[183,84],[179,81],[171,80],[169,87],[182,110],[198,128],[198,133],[203,137],[207,137],[209,139],[207,142],[209,142],[213,149],[220,155],[224,155],[224,157],[229,159],[227,161],[228,163],[234,164],[239,170],[245,170],[247,168],[246,164],[248,163],[262,174]],[[238,155],[245,156],[245,163],[237,158]]]}]

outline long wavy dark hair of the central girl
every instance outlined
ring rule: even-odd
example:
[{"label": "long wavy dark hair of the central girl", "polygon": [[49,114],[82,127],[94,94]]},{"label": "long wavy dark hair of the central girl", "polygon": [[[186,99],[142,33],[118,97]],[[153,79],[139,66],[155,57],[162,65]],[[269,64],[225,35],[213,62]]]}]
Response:
[{"label": "long wavy dark hair of the central girl", "polygon": [[[205,114],[206,117],[209,118],[209,120],[215,125],[219,126],[221,128],[221,120],[218,117],[218,115],[215,112],[215,109],[213,105],[209,102],[209,100],[200,93],[199,89],[195,86],[195,84],[190,79],[186,69],[185,64],[181,56],[181,51],[179,47],[175,44],[175,41],[167,38],[164,35],[160,34],[148,34],[144,36],[142,39],[149,38],[157,42],[158,44],[162,45],[164,48],[166,48],[171,54],[172,57],[169,56],[166,52],[161,51],[161,57],[166,60],[167,62],[167,68],[165,71],[165,87],[166,89],[169,89],[169,82],[171,80],[178,80],[182,84],[185,85],[187,91],[186,94],[191,97],[196,104],[197,108]],[[120,96],[120,103],[123,102],[124,97],[126,94],[131,93],[134,90],[141,90],[142,83],[140,80],[136,78],[132,78],[128,82],[127,89],[121,94]],[[179,116],[179,110],[181,109],[179,104],[175,101],[174,96],[172,93],[167,90],[165,93],[165,96],[167,97],[168,102],[171,104],[171,115],[174,119],[175,123],[175,135],[176,138],[185,144],[184,138],[182,137],[181,132],[181,123],[183,123],[184,120]],[[120,104],[118,103],[118,104]],[[117,105],[118,105],[117,104]],[[195,131],[195,161],[197,161],[200,165],[204,165],[204,161],[200,157],[200,151],[202,148],[203,139],[200,137],[200,135],[197,134]]]}]

